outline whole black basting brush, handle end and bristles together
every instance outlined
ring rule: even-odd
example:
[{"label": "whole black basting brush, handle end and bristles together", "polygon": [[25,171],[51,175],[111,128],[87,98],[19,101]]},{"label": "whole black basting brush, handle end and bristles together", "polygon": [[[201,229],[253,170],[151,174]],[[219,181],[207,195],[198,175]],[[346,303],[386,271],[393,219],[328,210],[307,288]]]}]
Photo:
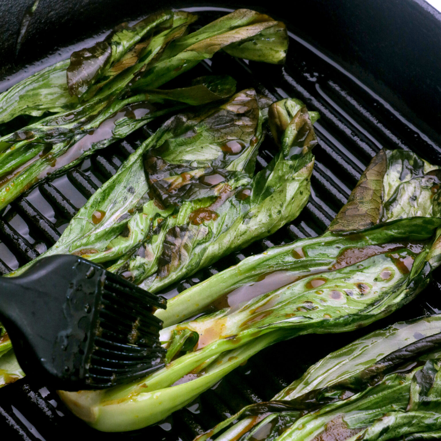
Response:
[{"label": "whole black basting brush, handle end and bristles together", "polygon": [[63,390],[102,389],[164,366],[153,315],[164,298],[72,255],[3,280],[1,318],[26,374]]}]

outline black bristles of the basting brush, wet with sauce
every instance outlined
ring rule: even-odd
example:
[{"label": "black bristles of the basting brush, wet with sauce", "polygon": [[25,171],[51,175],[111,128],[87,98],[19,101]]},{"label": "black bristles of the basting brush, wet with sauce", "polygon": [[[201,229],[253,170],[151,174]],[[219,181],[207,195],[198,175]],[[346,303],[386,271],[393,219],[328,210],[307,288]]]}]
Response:
[{"label": "black bristles of the basting brush, wet with sauce", "polygon": [[163,297],[106,273],[86,379],[90,387],[133,381],[164,366],[162,321],[153,312],[165,305]]}]

